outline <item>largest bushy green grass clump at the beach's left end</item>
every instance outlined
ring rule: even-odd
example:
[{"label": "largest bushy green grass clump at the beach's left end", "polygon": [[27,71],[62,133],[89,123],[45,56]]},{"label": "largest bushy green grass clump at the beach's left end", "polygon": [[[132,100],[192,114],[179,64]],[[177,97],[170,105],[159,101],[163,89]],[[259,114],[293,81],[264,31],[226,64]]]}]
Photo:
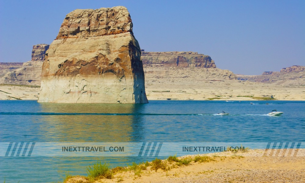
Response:
[{"label": "largest bushy green grass clump at the beach's left end", "polygon": [[87,167],[87,174],[89,178],[113,178],[113,173],[110,171],[109,163],[102,164],[101,161],[93,164],[93,167]]}]

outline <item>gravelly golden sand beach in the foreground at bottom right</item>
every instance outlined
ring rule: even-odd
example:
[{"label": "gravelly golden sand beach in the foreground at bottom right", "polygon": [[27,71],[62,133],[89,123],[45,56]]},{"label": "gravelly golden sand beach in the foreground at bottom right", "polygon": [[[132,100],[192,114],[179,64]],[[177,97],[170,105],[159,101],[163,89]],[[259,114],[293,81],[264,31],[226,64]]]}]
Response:
[{"label": "gravelly golden sand beach in the foreground at bottom right", "polygon": [[[170,167],[166,170],[152,170],[149,166],[141,173],[134,170],[117,171],[112,179],[98,178],[93,182],[305,182],[304,149],[265,149],[247,152],[210,153],[207,162],[194,162],[178,166],[175,162],[163,160]],[[284,155],[285,154],[285,155]],[[195,157],[183,156],[179,159]],[[66,182],[91,182],[88,178],[75,177]]]}]

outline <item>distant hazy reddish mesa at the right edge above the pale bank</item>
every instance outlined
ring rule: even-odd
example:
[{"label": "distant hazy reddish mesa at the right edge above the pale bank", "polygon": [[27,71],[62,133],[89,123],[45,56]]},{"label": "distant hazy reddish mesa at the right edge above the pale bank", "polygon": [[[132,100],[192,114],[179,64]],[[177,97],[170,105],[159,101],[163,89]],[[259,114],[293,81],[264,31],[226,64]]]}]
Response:
[{"label": "distant hazy reddish mesa at the right edge above the pale bank", "polygon": [[305,85],[305,66],[291,66],[281,69],[280,72],[268,71],[258,76],[237,75],[241,81],[258,83],[274,83],[279,85]]}]

